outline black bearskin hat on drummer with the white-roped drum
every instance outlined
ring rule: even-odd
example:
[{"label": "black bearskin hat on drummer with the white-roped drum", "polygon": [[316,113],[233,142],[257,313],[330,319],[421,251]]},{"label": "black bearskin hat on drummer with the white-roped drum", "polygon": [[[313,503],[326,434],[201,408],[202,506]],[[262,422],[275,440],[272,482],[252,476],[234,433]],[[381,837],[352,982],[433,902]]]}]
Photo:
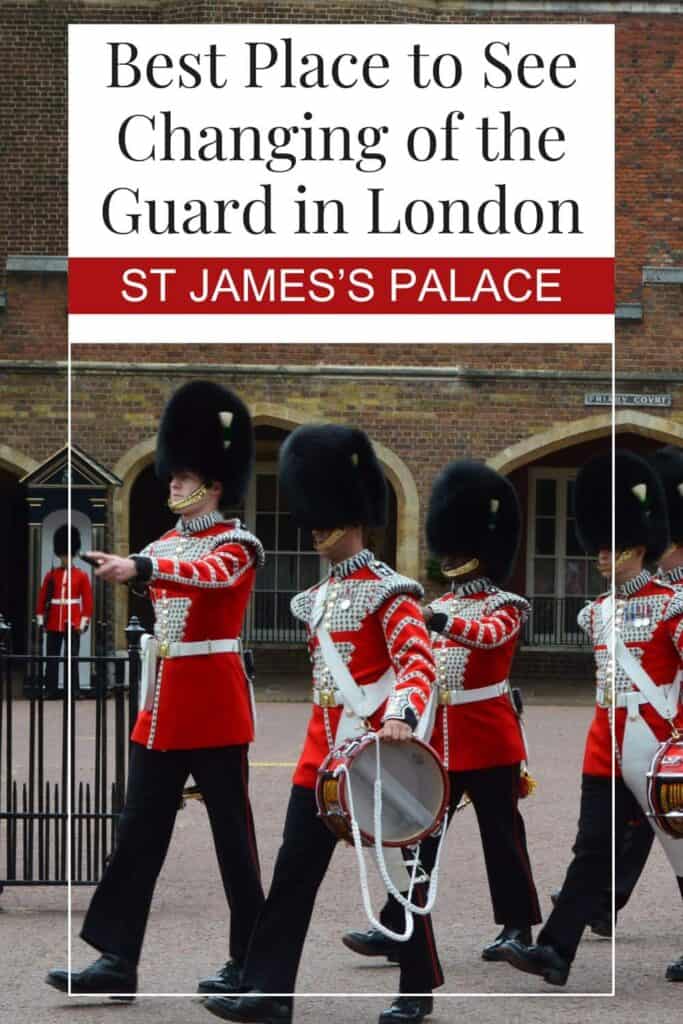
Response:
[{"label": "black bearskin hat on drummer with the white-roped drum", "polygon": [[297,427],[280,450],[280,483],[302,526],[383,526],[387,485],[362,430],[332,423]]}]

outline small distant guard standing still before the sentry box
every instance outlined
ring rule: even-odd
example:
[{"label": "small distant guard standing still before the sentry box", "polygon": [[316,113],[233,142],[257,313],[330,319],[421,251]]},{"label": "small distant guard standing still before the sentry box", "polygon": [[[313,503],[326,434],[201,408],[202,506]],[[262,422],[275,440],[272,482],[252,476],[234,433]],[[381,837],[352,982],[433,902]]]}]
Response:
[{"label": "small distant guard standing still before the sentry box", "polygon": [[[36,621],[45,630],[45,653],[58,657],[62,643],[71,631],[72,691],[79,693],[78,663],[76,658],[81,647],[81,634],[85,633],[92,618],[92,588],[87,572],[72,565],[69,556],[69,527],[62,523],[54,531],[52,539],[54,554],[59,559],[57,568],[45,573],[36,605]],[[76,526],[71,528],[71,558],[81,550],[81,535]],[[59,696],[59,663],[46,662],[45,695],[48,699]],[[67,685],[65,682],[65,691]]]}]

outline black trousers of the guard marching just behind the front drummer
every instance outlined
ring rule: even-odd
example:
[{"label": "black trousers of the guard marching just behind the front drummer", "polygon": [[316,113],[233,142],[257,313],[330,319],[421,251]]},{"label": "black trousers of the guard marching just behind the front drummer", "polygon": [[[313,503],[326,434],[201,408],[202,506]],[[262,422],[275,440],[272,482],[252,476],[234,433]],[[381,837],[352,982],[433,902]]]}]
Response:
[{"label": "black trousers of the guard marching just behind the front drummer", "polygon": [[[449,824],[463,794],[472,801],[479,824],[481,845],[494,906],[494,921],[499,925],[527,928],[541,921],[539,897],[533,884],[526,849],[524,822],[519,813],[519,764],[478,771],[452,771]],[[420,861],[429,873],[434,866],[438,839],[425,840]],[[443,871],[443,857],[439,870]],[[389,897],[380,921],[394,931],[403,913],[400,903]]]}]

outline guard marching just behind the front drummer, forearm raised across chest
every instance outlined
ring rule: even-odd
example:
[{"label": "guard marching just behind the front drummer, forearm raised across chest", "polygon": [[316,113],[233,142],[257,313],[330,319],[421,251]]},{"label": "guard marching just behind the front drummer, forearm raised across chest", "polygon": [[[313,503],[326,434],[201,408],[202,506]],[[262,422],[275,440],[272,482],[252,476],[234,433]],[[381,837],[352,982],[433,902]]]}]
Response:
[{"label": "guard marching just behind the front drummer, forearm raised across chest", "polygon": [[[520,721],[510,692],[510,666],[528,603],[501,589],[519,543],[519,503],[512,484],[481,463],[460,460],[437,477],[427,515],[427,540],[452,589],[433,601],[432,631],[439,710],[431,744],[451,778],[451,816],[465,793],[477,815],[494,920],[503,926],[482,956],[500,959],[508,938],[531,940],[541,920],[524,822],[517,804],[527,785]],[[422,844],[427,871],[437,840]],[[393,931],[403,911],[393,897],[381,922]],[[380,932],[349,932],[345,945],[364,955],[395,957],[397,944]]]}]

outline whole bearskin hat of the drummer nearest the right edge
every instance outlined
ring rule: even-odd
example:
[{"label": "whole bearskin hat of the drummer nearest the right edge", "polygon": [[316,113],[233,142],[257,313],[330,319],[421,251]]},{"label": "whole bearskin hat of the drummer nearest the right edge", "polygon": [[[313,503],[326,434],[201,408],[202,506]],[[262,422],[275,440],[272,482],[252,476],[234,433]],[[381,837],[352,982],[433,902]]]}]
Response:
[{"label": "whole bearskin hat of the drummer nearest the right edge", "polygon": [[[645,547],[647,559],[669,545],[664,487],[653,468],[633,452],[614,454],[614,548]],[[611,455],[596,456],[579,470],[575,487],[577,535],[589,555],[611,548]]]}]

